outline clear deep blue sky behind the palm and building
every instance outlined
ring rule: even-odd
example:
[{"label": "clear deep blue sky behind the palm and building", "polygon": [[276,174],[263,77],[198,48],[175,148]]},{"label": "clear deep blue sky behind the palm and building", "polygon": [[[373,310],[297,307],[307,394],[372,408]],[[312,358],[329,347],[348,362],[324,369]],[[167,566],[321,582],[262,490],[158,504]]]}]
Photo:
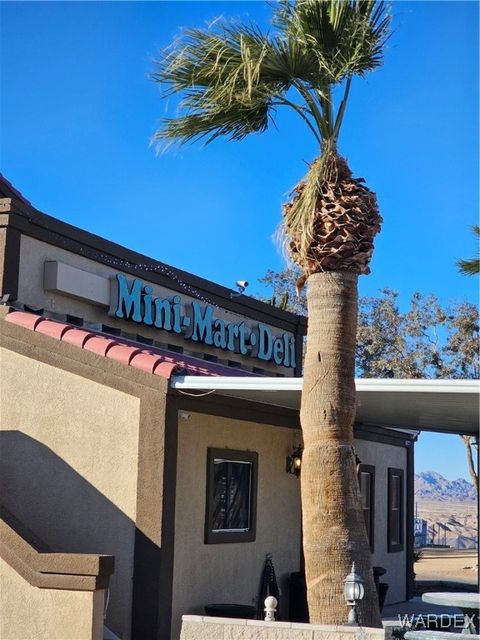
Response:
[{"label": "clear deep blue sky behind the palm and building", "polygon": [[[149,80],[158,50],[219,14],[266,27],[267,4],[3,2],[1,13],[1,167],[37,208],[227,286],[259,291],[282,268],[280,206],[316,152],[295,115],[241,143],[160,156],[149,144],[167,106]],[[385,66],[354,81],[341,136],[384,217],[360,293],[475,301],[478,282],[455,261],[475,254],[478,4],[395,2],[393,14]],[[431,438],[441,465],[422,445]],[[422,436],[417,468],[466,476],[461,444],[438,438]]]}]

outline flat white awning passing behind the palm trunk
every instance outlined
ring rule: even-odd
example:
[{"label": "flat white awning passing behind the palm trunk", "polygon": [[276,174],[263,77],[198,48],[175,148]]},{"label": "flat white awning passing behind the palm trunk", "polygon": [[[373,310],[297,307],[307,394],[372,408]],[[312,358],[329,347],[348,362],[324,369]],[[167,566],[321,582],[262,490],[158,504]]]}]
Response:
[{"label": "flat white awning passing behind the palm trunk", "polygon": [[[359,378],[355,382],[357,422],[478,435],[477,380]],[[302,383],[302,378],[175,376],[171,386],[189,395],[216,393],[298,410]]]}]

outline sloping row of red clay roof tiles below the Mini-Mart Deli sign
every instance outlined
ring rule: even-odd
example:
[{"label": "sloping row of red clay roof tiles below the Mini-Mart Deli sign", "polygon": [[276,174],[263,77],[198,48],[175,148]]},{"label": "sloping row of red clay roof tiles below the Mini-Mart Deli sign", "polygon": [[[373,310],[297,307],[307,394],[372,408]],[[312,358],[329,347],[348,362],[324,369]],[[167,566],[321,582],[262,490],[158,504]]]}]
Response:
[{"label": "sloping row of red clay roof tiles below the Mini-Mart Deli sign", "polygon": [[169,379],[173,373],[209,376],[255,375],[156,347],[142,348],[135,342],[112,338],[99,331],[80,329],[27,311],[11,311],[6,315],[5,321],[162,378]]}]

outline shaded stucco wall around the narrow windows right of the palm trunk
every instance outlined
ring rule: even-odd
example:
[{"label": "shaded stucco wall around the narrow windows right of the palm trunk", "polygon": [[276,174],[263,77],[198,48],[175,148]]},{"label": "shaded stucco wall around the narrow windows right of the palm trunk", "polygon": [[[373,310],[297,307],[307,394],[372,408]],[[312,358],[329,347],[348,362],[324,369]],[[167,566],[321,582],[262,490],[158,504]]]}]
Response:
[{"label": "shaded stucco wall around the narrow windows right of the palm trunk", "polygon": [[[413,446],[413,443],[411,444]],[[403,447],[355,440],[355,451],[363,464],[375,467],[375,531],[373,565],[385,567],[387,573],[381,582],[390,585],[386,604],[402,602],[406,598],[406,545],[404,529],[403,551],[389,552],[388,523],[388,468],[404,469],[404,526],[406,525],[407,450]]]}]

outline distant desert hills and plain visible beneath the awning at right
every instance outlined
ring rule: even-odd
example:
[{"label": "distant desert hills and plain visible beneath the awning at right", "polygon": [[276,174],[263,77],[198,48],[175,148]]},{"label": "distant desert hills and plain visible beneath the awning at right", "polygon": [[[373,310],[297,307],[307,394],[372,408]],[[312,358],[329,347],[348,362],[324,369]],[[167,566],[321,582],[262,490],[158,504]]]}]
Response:
[{"label": "distant desert hills and plain visible beneath the awning at right", "polygon": [[428,522],[435,543],[455,549],[473,549],[477,540],[477,495],[464,478],[446,480],[435,471],[415,475],[415,504],[418,515]]}]

